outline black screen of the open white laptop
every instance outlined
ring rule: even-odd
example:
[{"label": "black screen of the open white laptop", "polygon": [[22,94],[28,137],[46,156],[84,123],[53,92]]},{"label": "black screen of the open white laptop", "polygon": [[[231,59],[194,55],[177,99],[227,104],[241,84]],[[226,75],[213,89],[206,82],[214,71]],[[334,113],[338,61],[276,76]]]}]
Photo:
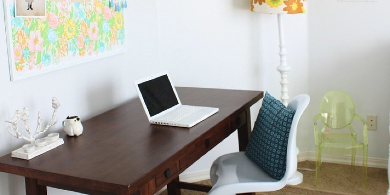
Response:
[{"label": "black screen of the open white laptop", "polygon": [[138,88],[151,117],[178,104],[167,75],[139,83]]}]

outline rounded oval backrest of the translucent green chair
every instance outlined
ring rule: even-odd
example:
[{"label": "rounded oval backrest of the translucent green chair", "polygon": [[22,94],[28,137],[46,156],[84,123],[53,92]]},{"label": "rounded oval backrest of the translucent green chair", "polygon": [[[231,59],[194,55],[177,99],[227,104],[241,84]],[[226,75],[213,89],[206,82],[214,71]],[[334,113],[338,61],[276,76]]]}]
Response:
[{"label": "rounded oval backrest of the translucent green chair", "polygon": [[355,104],[345,92],[333,90],[321,99],[321,121],[332,129],[341,129],[351,124],[355,114]]}]

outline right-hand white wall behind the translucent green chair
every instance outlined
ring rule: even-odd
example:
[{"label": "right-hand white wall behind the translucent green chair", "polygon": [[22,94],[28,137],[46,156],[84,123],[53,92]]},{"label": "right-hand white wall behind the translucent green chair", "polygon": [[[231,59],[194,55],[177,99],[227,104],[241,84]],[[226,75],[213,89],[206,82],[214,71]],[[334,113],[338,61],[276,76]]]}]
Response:
[{"label": "right-hand white wall behind the translucent green chair", "polygon": [[[385,159],[389,154],[389,6],[389,0],[311,0],[308,14],[312,102],[307,114],[318,112],[325,92],[346,91],[359,115],[378,116],[377,130],[369,131],[368,155]],[[308,140],[306,150],[314,151],[313,133],[309,132],[300,138]]]}]

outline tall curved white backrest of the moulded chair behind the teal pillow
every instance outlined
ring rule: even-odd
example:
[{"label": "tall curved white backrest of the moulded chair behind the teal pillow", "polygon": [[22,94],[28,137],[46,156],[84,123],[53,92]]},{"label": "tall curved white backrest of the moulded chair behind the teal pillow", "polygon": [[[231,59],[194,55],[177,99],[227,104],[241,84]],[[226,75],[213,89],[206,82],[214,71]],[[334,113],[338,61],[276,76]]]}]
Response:
[{"label": "tall curved white backrest of the moulded chair behind the teal pillow", "polygon": [[296,147],[296,129],[299,122],[299,118],[302,116],[303,111],[308,107],[310,102],[310,96],[307,94],[301,94],[292,98],[290,103],[287,105],[288,108],[295,110],[295,115],[292,118],[289,142],[287,145],[287,164],[286,174],[283,179],[290,179],[296,172],[297,169],[297,147]]}]

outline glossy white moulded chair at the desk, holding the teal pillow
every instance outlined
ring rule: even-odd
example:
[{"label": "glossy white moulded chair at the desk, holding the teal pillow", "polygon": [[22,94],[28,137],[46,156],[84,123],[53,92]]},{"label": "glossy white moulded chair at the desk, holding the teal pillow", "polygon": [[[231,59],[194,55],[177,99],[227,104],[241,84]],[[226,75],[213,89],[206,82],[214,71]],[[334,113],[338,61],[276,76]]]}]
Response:
[{"label": "glossy white moulded chair at the desk, holding the teal pillow", "polygon": [[[231,153],[218,157],[210,170],[212,189],[208,195],[234,195],[239,193],[270,192],[282,189],[287,184],[297,185],[296,127],[303,111],[310,101],[309,95],[301,94],[290,101],[288,108],[295,110],[292,119],[288,146],[286,173],[281,180],[273,179],[263,171],[245,152]],[[300,176],[297,176],[300,175]]]}]

